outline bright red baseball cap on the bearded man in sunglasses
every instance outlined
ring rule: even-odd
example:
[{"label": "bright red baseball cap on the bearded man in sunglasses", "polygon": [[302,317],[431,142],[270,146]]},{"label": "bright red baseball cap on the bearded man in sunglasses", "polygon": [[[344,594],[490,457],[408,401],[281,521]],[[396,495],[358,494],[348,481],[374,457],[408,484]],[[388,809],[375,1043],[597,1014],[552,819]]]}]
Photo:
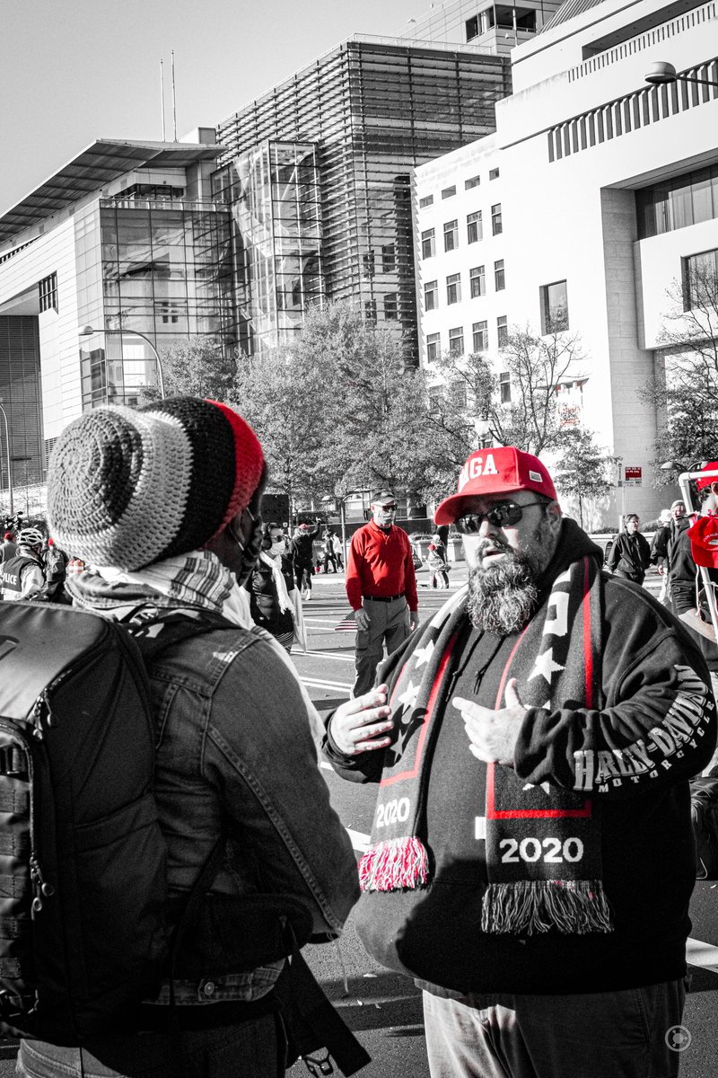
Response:
[{"label": "bright red baseball cap on the bearded man in sunglasses", "polygon": [[459,473],[456,494],[445,498],[437,507],[434,522],[453,524],[463,514],[469,498],[512,494],[515,490],[535,490],[551,500],[557,499],[553,480],[546,466],[532,453],[524,453],[512,445],[478,450],[467,457]]}]

